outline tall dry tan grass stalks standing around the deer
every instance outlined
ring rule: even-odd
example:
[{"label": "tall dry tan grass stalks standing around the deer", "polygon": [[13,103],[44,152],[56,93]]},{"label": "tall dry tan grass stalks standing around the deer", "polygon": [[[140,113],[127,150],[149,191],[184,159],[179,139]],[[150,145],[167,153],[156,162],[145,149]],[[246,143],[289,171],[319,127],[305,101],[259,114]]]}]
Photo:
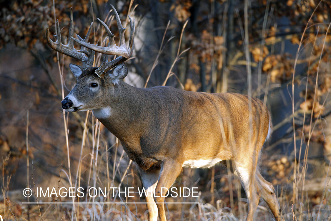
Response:
[{"label": "tall dry tan grass stalks standing around the deer", "polygon": [[[54,1],[53,1],[54,4]],[[252,90],[252,77],[251,77],[251,61],[250,61],[250,53],[249,53],[249,22],[248,22],[248,4],[249,1],[245,1],[245,30],[243,31],[244,36],[243,39],[245,40],[245,57],[246,57],[246,67],[248,71],[248,93],[250,95],[258,95],[260,96],[260,90],[264,90],[265,95],[264,95],[264,103],[267,103],[267,94],[269,90],[269,83],[270,83],[270,73],[268,74],[267,81],[265,85],[261,85],[260,80],[258,82],[258,89],[257,91]],[[264,32],[267,27],[267,18],[268,18],[268,11],[269,11],[269,4],[270,1],[267,1],[267,9],[265,12],[265,18],[263,20],[263,30],[262,30],[262,43],[261,43],[261,52],[262,48],[264,46]],[[132,8],[133,1],[130,2],[129,9]],[[54,11],[55,11],[55,6]],[[318,5],[316,6],[316,8]],[[133,10],[135,7],[133,7]],[[92,10],[93,11],[93,10]],[[130,10],[129,10],[130,11]],[[133,11],[132,11],[133,12]],[[131,12],[131,13],[132,13]],[[314,15],[315,11],[312,13],[311,17]],[[54,13],[55,14],[55,13]],[[107,23],[112,23],[113,16],[109,16],[110,14],[107,15],[106,19],[106,24]],[[310,18],[311,18],[310,17]],[[55,18],[54,18],[55,19]],[[126,23],[127,24],[127,23]],[[168,23],[167,28],[170,23]],[[169,77],[172,75],[175,76],[175,74],[172,72],[173,67],[175,66],[176,62],[181,58],[183,53],[187,52],[188,49],[183,50],[180,52],[180,46],[181,46],[181,39],[184,33],[184,29],[187,25],[187,22],[183,25],[183,28],[181,30],[181,36],[179,40],[179,45],[178,45],[178,51],[176,54],[176,57],[169,68],[168,74],[166,76],[166,79],[163,83],[163,85],[166,84],[167,80]],[[310,114],[310,122],[309,122],[309,134],[308,134],[308,141],[307,141],[307,148],[304,153],[304,158],[301,160],[301,151],[303,145],[304,145],[304,133],[301,133],[300,137],[300,146],[298,147],[296,144],[297,138],[297,129],[296,129],[296,124],[295,124],[295,117],[297,116],[298,110],[296,109],[296,103],[294,100],[294,88],[296,86],[295,82],[295,71],[296,71],[296,65],[298,63],[298,59],[300,56],[300,52],[302,52],[302,47],[304,46],[304,36],[305,32],[309,28],[310,25],[310,19],[307,23],[307,26],[304,30],[304,33],[302,34],[302,38],[299,44],[299,48],[295,57],[295,62],[294,62],[294,72],[293,72],[293,78],[292,78],[292,123],[293,123],[293,140],[294,140],[294,148],[295,148],[295,153],[297,153],[299,150],[299,156],[295,154],[294,157],[294,166],[293,166],[293,181],[290,181],[290,185],[292,186],[292,192],[288,192],[284,187],[277,188],[277,193],[279,195],[278,199],[280,202],[280,207],[281,207],[281,220],[315,220],[315,221],[320,221],[320,220],[331,220],[331,208],[330,208],[330,193],[328,193],[328,182],[329,180],[327,179],[329,177],[329,170],[330,170],[330,165],[331,161],[329,162],[328,165],[328,170],[327,170],[327,175],[324,183],[324,190],[321,196],[321,203],[314,206],[310,207],[309,204],[309,198],[307,197],[306,194],[306,189],[305,189],[305,181],[306,181],[306,176],[307,176],[307,165],[308,165],[308,148],[310,144],[310,140],[312,137],[312,133],[315,130],[316,123],[312,121],[313,118],[313,112],[306,112],[304,111],[303,113],[303,125],[305,125],[305,119],[306,115]],[[93,23],[93,28],[95,30],[98,30],[100,28],[100,25],[96,26],[95,23]],[[331,23],[328,26],[328,29],[330,29]],[[166,31],[167,31],[166,28]],[[243,28],[244,29],[244,28]],[[163,53],[163,50],[165,46],[163,45],[163,42],[165,40],[166,36],[166,31],[163,36],[162,44],[160,46],[159,52],[157,54],[157,57],[155,59],[155,62],[152,65],[151,71],[148,75],[145,87],[147,86],[147,83],[150,79],[150,76],[154,70],[154,68],[158,65],[158,59]],[[95,31],[96,32],[96,31]],[[102,30],[104,33],[104,30]],[[325,34],[325,39],[323,43],[323,48],[324,44],[326,42],[326,37],[327,33]],[[317,38],[317,33],[316,33],[316,38]],[[316,40],[315,38],[315,40]],[[173,37],[170,37],[167,42],[172,40]],[[106,39],[96,39],[96,36],[94,35],[94,42],[103,45]],[[167,44],[166,42],[166,44]],[[313,45],[315,45],[315,41],[313,42]],[[271,54],[273,53],[274,49],[274,44],[271,46]],[[314,48],[314,47],[313,47]],[[323,49],[322,49],[323,51]],[[321,55],[322,56],[322,52]],[[262,56],[262,55],[261,55]],[[312,56],[312,51],[311,55]],[[63,60],[63,59],[62,59]],[[319,58],[319,62],[321,61],[321,57]],[[98,65],[101,63],[101,55],[98,54],[95,58],[95,64]],[[57,53],[57,65],[58,65],[58,70],[59,70],[59,76],[61,79],[61,93],[62,93],[62,98],[65,97],[65,92],[64,92],[64,63],[60,63],[60,58],[59,54]],[[260,63],[261,66],[261,63]],[[308,66],[310,66],[310,61]],[[308,69],[309,70],[309,69]],[[259,72],[259,79],[260,79],[261,72]],[[176,77],[176,76],[175,76]],[[316,100],[316,92],[318,90],[318,72],[317,76],[315,79],[315,97],[314,99]],[[309,71],[307,72],[307,79],[310,78],[310,73]],[[178,79],[178,78],[177,78]],[[181,85],[183,87],[183,85]],[[307,100],[307,87],[308,87],[308,80],[306,83],[306,100]],[[223,85],[223,88],[226,88],[226,85]],[[327,94],[328,96],[328,94]],[[325,105],[327,101],[327,96],[325,97],[322,106]],[[251,106],[250,106],[251,110]],[[306,110],[306,108],[305,108]],[[318,114],[318,117],[320,117],[320,113]],[[68,124],[70,121],[69,114],[66,113],[63,110],[63,125],[64,125],[64,135],[65,135],[65,140],[66,140],[66,151],[67,151],[67,165],[63,166],[63,169],[60,172],[59,175],[59,184],[58,186],[60,187],[60,180],[67,178],[68,183],[70,187],[81,187],[83,185],[86,185],[86,188],[98,188],[98,187],[107,187],[109,190],[110,188],[119,188],[119,187],[130,187],[129,182],[136,181],[139,183],[139,178],[136,175],[136,172],[130,173],[130,169],[132,168],[132,161],[126,159],[126,155],[124,150],[121,149],[118,139],[116,138],[116,142],[112,146],[108,146],[108,143],[102,138],[103,135],[103,125],[93,116],[93,114],[90,111],[86,112],[85,115],[85,120],[82,125],[82,139],[80,143],[80,152],[79,152],[79,157],[77,160],[77,167],[76,171],[73,171],[71,168],[71,162],[72,162],[72,156],[71,156],[71,151],[70,149],[72,148],[72,145],[70,143],[69,139],[69,131],[68,131]],[[252,118],[250,118],[250,121],[252,121]],[[28,157],[28,125],[29,125],[29,120],[28,120],[28,112],[27,112],[27,125],[26,125],[26,152],[27,152],[27,187],[29,187],[29,180],[32,178],[33,179],[33,174],[29,174],[29,157]],[[252,125],[252,124],[251,124]],[[251,128],[253,130],[253,128]],[[253,145],[253,144],[252,144]],[[87,149],[87,150],[86,150]],[[112,158],[109,155],[109,151],[115,149],[115,155],[113,156],[113,164],[111,165],[110,159]],[[121,151],[120,156],[118,157],[117,152]],[[87,154],[84,155],[85,152],[88,152]],[[14,219],[17,219],[17,214],[13,212],[15,210],[14,206],[11,204],[10,200],[8,200],[7,197],[7,192],[9,190],[9,182],[10,182],[10,176],[7,176],[7,179],[5,179],[5,173],[4,173],[4,165],[6,163],[6,160],[8,158],[3,159],[2,162],[2,175],[3,175],[3,190],[2,194],[4,197],[3,201],[3,207],[7,208],[4,210],[5,217],[8,216],[8,213],[11,213],[14,217]],[[124,169],[123,169],[123,165]],[[239,181],[233,176],[233,174],[230,172],[230,165],[229,162],[228,164],[228,169],[227,173],[228,175],[226,176],[227,178],[227,185],[228,189],[230,191],[230,207],[227,207],[227,203],[224,202],[222,199],[217,199],[215,201],[215,197],[213,194],[212,200],[209,200],[208,197],[203,197],[202,193],[199,193],[199,198],[197,199],[197,204],[191,205],[189,208],[187,207],[178,207],[175,209],[175,212],[171,210],[169,213],[171,213],[171,219],[173,217],[176,217],[174,220],[245,220],[245,214],[247,213],[247,200],[245,198],[241,198],[241,186]],[[32,165],[33,167],[33,165]],[[32,168],[33,171],[33,168]],[[210,192],[214,193],[214,188],[215,183],[214,180],[216,180],[215,170],[213,170],[212,174],[212,180],[211,180],[211,185],[210,185]],[[63,176],[64,174],[65,176]],[[65,177],[65,178],[63,178]],[[84,177],[85,180],[84,180]],[[132,178],[130,178],[132,177]],[[129,179],[130,178],[130,179]],[[33,186],[35,187],[36,185],[34,184],[32,180]],[[136,184],[140,185],[140,184]],[[176,183],[175,185],[183,185],[182,183]],[[238,196],[236,199],[234,194]],[[291,196],[289,196],[291,195]],[[293,203],[289,203],[290,199],[292,199]],[[134,200],[137,200],[137,198],[134,198]],[[147,220],[147,212],[145,209],[144,205],[140,204],[125,204],[126,202],[135,202],[134,200],[131,200],[128,197],[119,197],[119,193],[116,192],[115,196],[111,195],[111,192],[107,192],[107,196],[104,197],[98,197],[98,198],[91,198],[88,197],[86,194],[86,197],[84,198],[74,198],[72,197],[70,199],[70,202],[73,204],[69,205],[37,205],[37,207],[33,208],[28,208],[27,213],[25,213],[26,216],[22,215],[20,217],[22,220]],[[143,199],[139,199],[143,200]],[[179,200],[184,200],[184,199],[179,199]],[[54,199],[54,202],[59,202],[61,201],[60,198]],[[84,202],[84,204],[78,204]],[[117,204],[105,204],[104,202],[116,202]],[[180,213],[179,215],[176,214]],[[172,214],[173,213],[173,214]],[[182,215],[184,214],[185,215]],[[260,202],[258,208],[257,208],[257,220],[271,220],[272,215],[271,213],[268,212],[267,206],[263,203]],[[31,217],[30,215],[31,214]],[[55,214],[55,215],[54,215]],[[54,215],[56,218],[52,217]],[[176,216],[177,215],[177,216]],[[177,219],[178,218],[178,219]]]}]

